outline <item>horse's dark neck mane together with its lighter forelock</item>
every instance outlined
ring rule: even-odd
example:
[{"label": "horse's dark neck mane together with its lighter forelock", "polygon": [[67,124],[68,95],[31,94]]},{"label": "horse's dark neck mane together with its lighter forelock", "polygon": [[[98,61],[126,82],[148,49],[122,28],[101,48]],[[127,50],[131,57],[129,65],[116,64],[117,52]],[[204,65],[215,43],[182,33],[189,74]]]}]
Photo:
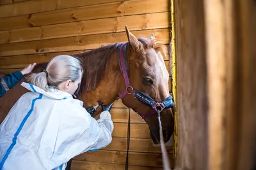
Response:
[{"label": "horse's dark neck mane together with its lighter forelock", "polygon": [[[155,40],[142,37],[139,38],[138,41],[143,44],[144,48],[154,48],[157,52],[162,52],[163,55],[166,55],[166,46],[163,44],[158,43]],[[81,92],[89,92],[98,87],[106,67],[108,67],[108,60],[113,52],[117,52],[119,45],[120,43],[115,43],[112,45],[102,46],[89,52],[72,55],[79,57],[82,60],[84,73],[81,81]]]}]

